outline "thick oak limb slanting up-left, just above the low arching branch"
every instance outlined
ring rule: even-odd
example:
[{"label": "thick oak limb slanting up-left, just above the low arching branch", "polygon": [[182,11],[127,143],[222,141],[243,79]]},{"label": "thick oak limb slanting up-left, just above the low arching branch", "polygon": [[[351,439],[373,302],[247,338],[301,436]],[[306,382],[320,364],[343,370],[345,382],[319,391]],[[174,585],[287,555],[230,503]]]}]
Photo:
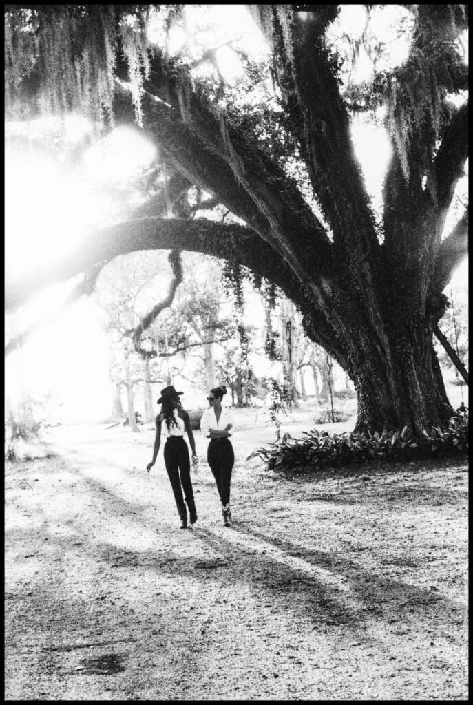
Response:
[{"label": "thick oak limb slanting up-left, just above the low arching branch", "polygon": [[240,130],[217,117],[188,83],[173,87],[167,97],[179,111],[150,102],[147,128],[173,167],[254,228],[301,281],[307,278],[303,259],[317,269],[321,262],[329,266],[330,240],[295,183]]}]

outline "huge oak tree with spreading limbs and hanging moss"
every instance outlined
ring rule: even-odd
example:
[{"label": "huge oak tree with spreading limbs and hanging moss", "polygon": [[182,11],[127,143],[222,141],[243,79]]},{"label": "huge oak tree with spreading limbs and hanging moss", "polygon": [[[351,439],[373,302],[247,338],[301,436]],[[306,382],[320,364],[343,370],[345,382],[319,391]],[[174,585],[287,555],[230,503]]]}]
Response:
[{"label": "huge oak tree with spreading limbs and hanging moss", "polygon": [[[375,73],[364,92],[343,85],[328,46],[340,6],[248,6],[270,49],[277,102],[252,115],[235,109],[218,81],[199,84],[184,59],[148,51],[149,12],[160,8],[172,26],[182,7],[6,6],[12,114],[32,115],[39,105],[138,123],[171,173],[163,192],[94,233],[61,266],[7,279],[7,307],[125,252],[205,252],[247,266],[295,302],[308,336],[355,383],[357,430],[388,424],[420,432],[443,422],[452,409],[433,335],[446,310],[443,289],[467,252],[466,211],[443,236],[467,159],[468,104],[448,101],[467,89],[457,47],[466,6],[403,6],[410,53]],[[201,57],[212,58],[210,50]],[[381,218],[350,137],[352,111],[377,106],[386,109],[393,142]],[[281,150],[304,178],[290,176]],[[168,217],[166,204],[191,187],[236,218]]]}]

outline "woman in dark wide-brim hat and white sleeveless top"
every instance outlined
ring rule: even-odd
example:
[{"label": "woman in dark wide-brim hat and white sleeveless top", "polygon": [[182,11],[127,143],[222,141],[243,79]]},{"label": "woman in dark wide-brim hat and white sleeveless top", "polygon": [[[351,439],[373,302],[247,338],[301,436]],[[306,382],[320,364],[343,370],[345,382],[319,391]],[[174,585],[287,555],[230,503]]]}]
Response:
[{"label": "woman in dark wide-brim hat and white sleeveless top", "polygon": [[161,413],[156,416],[153,459],[148,463],[146,469],[149,472],[156,462],[159,446],[161,445],[162,427],[166,438],[163,451],[164,465],[166,465],[171,487],[173,488],[174,499],[176,500],[180,516],[180,528],[185,529],[188,525],[188,513],[185,508],[184,497],[188,505],[191,524],[197,521],[197,511],[190,479],[189,449],[188,444],[184,440],[184,431],[187,431],[189,436],[193,462],[197,462],[197,453],[195,452],[195,441],[190,427],[188,412],[183,409],[180,403],[179,397],[182,394],[183,392],[176,392],[172,384],[161,389],[161,397],[157,402],[161,404]]}]

